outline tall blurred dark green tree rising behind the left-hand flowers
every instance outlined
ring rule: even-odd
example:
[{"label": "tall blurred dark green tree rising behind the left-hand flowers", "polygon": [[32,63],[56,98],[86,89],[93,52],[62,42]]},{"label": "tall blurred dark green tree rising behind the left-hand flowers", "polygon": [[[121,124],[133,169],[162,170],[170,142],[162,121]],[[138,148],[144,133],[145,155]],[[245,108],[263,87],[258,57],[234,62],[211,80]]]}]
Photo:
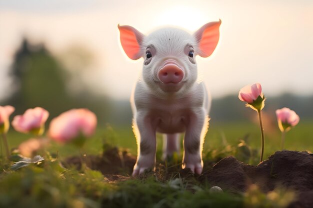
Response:
[{"label": "tall blurred dark green tree rising behind the left-hand flowers", "polygon": [[6,101],[17,112],[41,106],[52,115],[68,109],[64,70],[44,45],[31,45],[22,40],[10,69],[13,94]]}]

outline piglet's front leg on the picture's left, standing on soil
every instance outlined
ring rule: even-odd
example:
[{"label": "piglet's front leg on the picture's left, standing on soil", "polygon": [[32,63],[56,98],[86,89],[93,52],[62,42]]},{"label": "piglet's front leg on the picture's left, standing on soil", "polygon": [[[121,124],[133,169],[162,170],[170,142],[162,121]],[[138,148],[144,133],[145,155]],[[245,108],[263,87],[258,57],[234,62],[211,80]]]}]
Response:
[{"label": "piglet's front leg on the picture's left, standing on soil", "polygon": [[138,146],[137,161],[132,171],[132,176],[135,177],[155,166],[156,125],[153,119],[144,112],[136,113],[133,125]]}]

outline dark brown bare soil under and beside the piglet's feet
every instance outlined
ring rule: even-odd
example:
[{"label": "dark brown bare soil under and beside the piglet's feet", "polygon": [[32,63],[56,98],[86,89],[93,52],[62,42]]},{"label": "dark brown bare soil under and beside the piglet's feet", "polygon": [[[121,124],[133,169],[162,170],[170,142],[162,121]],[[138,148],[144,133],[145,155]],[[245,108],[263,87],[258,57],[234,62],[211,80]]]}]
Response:
[{"label": "dark brown bare soil under and beside the piglet's feet", "polygon": [[[86,156],[83,161],[89,168],[100,171],[106,180],[115,182],[131,179],[129,176],[136,158],[125,151],[119,152],[117,148],[110,148],[101,156]],[[67,158],[64,166],[80,169],[81,159]],[[230,193],[244,193],[252,184],[257,185],[264,193],[283,187],[294,190],[297,195],[288,208],[313,207],[313,154],[277,151],[256,167],[243,164],[230,156],[207,169],[208,167],[204,167],[202,175],[195,177],[188,170],[181,170],[180,165],[166,168],[164,163],[159,163],[156,172],[148,175],[155,174],[160,181],[180,177],[193,183],[218,186]]]}]

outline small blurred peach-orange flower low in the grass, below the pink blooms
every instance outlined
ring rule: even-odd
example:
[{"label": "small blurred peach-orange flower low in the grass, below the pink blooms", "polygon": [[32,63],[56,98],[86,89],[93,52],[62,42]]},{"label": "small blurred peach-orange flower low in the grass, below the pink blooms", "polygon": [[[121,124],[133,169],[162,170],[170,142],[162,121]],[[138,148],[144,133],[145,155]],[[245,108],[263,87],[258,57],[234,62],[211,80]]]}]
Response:
[{"label": "small blurred peach-orange flower low in the grass, below the pink blooms", "polygon": [[18,151],[25,157],[32,157],[34,154],[47,144],[46,139],[28,139],[18,146]]}]

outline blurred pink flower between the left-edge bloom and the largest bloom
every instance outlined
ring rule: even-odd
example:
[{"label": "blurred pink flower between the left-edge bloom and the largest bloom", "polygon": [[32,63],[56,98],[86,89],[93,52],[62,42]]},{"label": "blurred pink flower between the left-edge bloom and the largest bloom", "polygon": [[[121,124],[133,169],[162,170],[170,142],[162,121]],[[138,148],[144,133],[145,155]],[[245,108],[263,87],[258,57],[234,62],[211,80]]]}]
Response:
[{"label": "blurred pink flower between the left-edge bloom and the largest bloom", "polygon": [[49,112],[43,108],[30,108],[23,115],[18,115],[13,118],[12,126],[18,132],[32,132],[35,135],[41,135],[44,131],[44,123],[49,117]]}]

